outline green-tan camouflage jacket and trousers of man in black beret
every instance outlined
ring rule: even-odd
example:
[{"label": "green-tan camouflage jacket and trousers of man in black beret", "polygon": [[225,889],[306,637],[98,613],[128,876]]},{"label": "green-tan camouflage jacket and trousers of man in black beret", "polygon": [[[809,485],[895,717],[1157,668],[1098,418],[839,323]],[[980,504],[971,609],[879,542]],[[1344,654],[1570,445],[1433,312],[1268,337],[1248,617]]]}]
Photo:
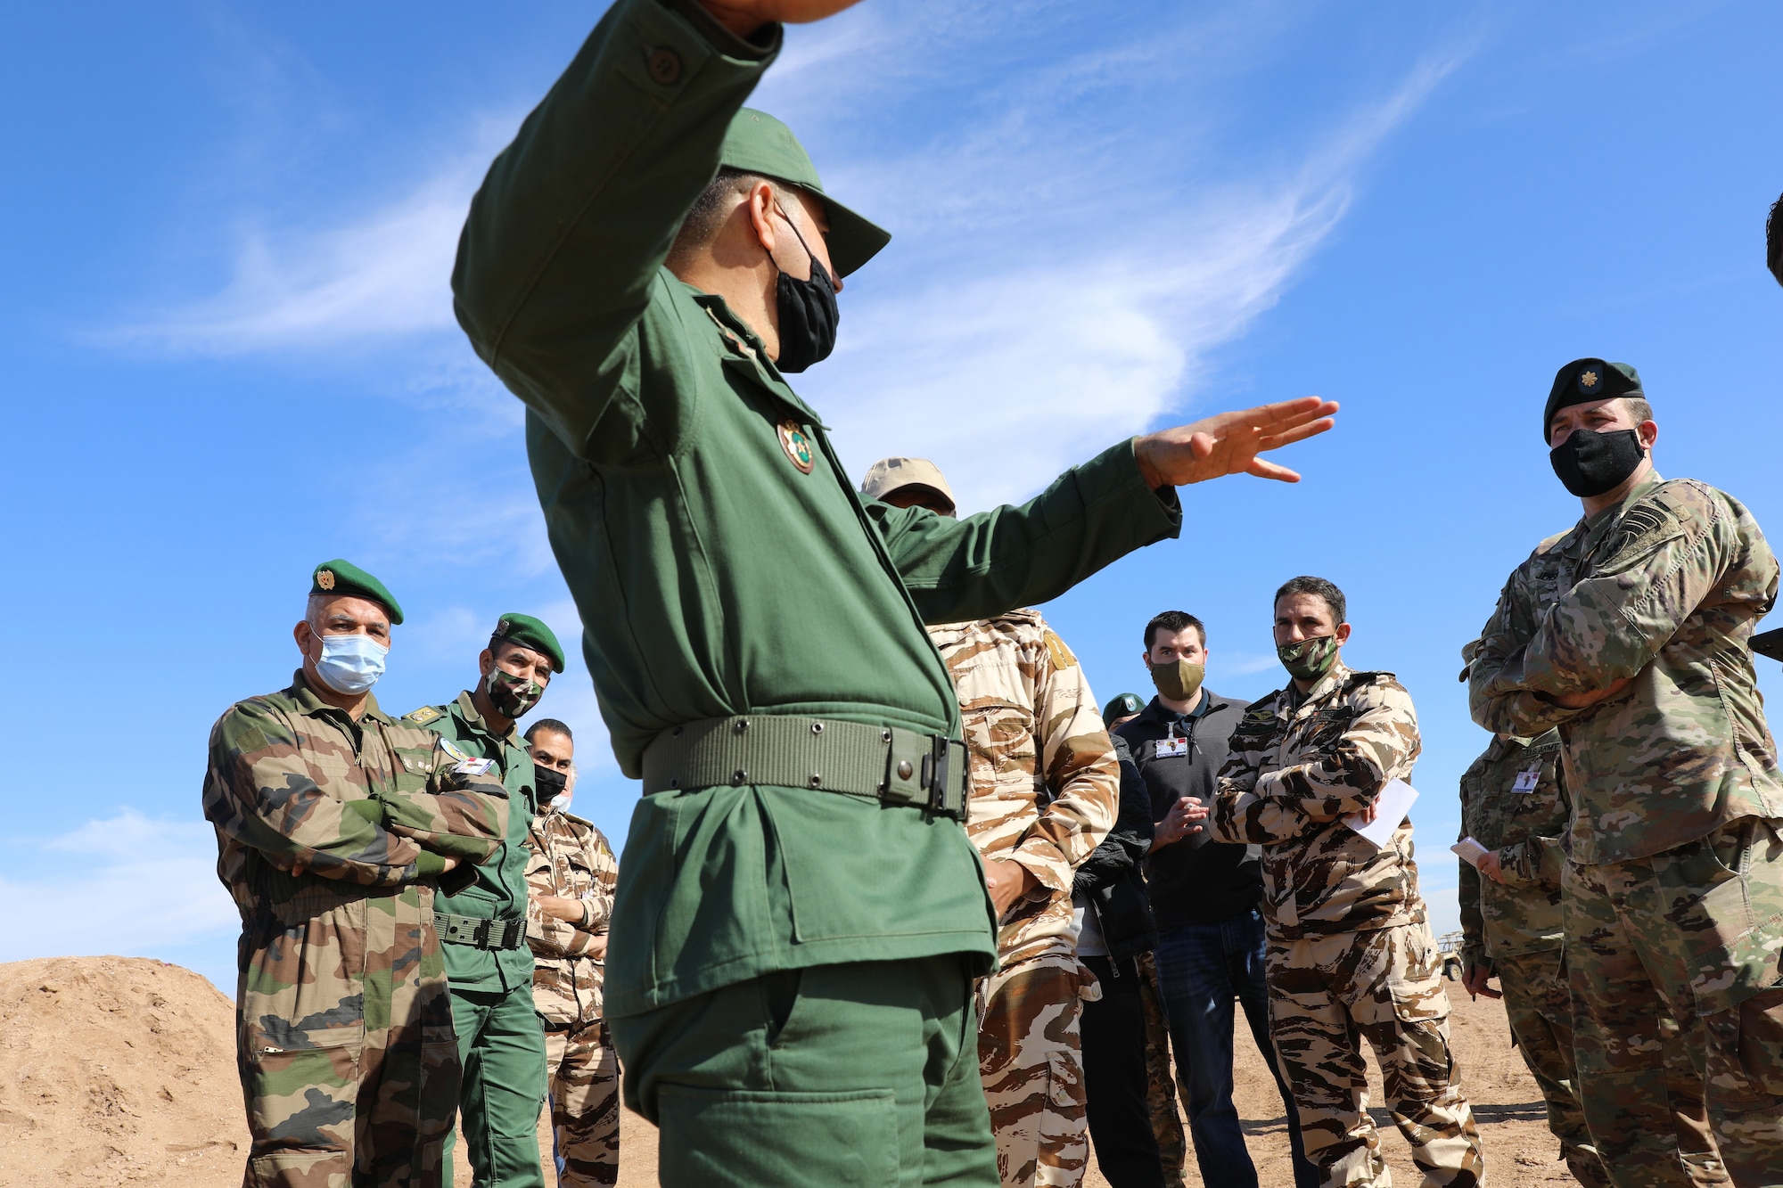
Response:
[{"label": "green-tan camouflage jacket and trousers of man in black beret", "polygon": [[1738,501],[1655,474],[1537,546],[1475,653],[1476,722],[1564,740],[1580,1099],[1617,1184],[1676,1179],[1667,1013],[1733,1183],[1783,1183],[1783,781],[1747,648],[1776,590]]}]

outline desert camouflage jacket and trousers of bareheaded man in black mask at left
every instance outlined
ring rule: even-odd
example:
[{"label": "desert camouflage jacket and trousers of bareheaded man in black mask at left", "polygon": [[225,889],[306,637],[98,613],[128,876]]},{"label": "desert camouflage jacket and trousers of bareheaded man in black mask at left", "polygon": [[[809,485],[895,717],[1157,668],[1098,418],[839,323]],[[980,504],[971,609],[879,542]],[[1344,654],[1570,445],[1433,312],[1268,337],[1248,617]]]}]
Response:
[{"label": "desert camouflage jacket and trousers of bareheaded man in black mask at left", "polygon": [[[533,967],[533,1006],[546,1022],[551,1070],[551,1127],[562,1188],[619,1183],[619,1056],[601,1017],[604,963],[588,953],[613,913],[619,862],[606,837],[581,817],[547,808],[526,837],[526,944]],[[578,899],[583,924],[547,917],[538,895]]]}]

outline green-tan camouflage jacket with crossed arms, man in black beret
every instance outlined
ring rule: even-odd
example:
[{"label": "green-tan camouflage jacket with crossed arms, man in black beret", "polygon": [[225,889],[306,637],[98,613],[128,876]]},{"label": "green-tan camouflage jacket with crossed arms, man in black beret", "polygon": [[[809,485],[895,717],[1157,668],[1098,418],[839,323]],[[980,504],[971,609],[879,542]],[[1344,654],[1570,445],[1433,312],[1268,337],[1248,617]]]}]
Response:
[{"label": "green-tan camouflage jacket with crossed arms, man in black beret", "polygon": [[[1573,796],[1573,862],[1647,858],[1738,817],[1783,817],[1753,623],[1778,562],[1737,499],[1656,474],[1544,540],[1505,583],[1471,672],[1473,719],[1555,726]],[[1631,683],[1583,710],[1555,696]]]}]

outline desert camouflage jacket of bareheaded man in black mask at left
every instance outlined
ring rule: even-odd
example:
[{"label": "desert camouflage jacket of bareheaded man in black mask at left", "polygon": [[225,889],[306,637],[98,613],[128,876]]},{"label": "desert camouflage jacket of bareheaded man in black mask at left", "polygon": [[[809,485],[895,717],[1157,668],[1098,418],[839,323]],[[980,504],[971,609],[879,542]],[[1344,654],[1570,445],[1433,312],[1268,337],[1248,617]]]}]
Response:
[{"label": "desert camouflage jacket of bareheaded man in black mask at left", "polygon": [[[619,860],[606,835],[581,817],[547,808],[533,817],[526,835],[526,944],[531,945],[533,1006],[553,1031],[601,1019],[601,983],[606,963],[588,954],[606,935],[613,915]],[[538,895],[560,895],[588,904],[587,924],[569,924],[538,910]]]}]

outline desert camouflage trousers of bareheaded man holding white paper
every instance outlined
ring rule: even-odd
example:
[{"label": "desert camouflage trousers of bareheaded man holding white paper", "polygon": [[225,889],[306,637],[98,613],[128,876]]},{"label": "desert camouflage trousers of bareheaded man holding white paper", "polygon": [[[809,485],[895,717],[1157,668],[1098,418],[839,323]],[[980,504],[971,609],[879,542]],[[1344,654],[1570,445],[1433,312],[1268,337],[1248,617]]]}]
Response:
[{"label": "desert camouflage trousers of bareheaded man holding white paper", "polygon": [[1475,1188],[1485,1170],[1473,1110],[1455,1083],[1442,958],[1423,924],[1303,940],[1269,938],[1269,1020],[1327,1188],[1393,1183],[1368,1113],[1364,1040],[1387,1110],[1425,1184]]}]

